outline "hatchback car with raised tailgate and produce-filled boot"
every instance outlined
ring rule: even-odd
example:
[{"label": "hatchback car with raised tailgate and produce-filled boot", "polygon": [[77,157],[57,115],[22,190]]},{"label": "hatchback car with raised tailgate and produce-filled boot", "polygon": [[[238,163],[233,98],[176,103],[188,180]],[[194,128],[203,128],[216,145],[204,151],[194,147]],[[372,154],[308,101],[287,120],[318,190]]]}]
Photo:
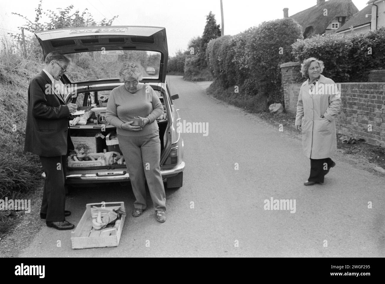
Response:
[{"label": "hatchback car with raised tailgate and produce-filled boot", "polygon": [[[130,180],[126,165],[115,161],[117,155],[111,163],[97,159],[98,156],[104,155],[106,150],[107,153],[119,154],[119,144],[112,143],[117,139],[116,128],[101,123],[104,123],[102,121],[105,114],[104,104],[110,91],[124,84],[117,79],[117,71],[127,63],[127,58],[142,58],[143,51],[146,51],[147,58],[159,58],[156,63],[159,64],[159,72],[156,74],[153,67],[147,67],[147,74],[155,76],[146,77],[146,74],[143,74],[141,82],[151,86],[163,104],[164,114],[157,119],[161,140],[161,175],[166,180],[167,188],[182,187],[183,139],[176,130],[181,118],[174,103],[174,99],[179,96],[178,94],[172,96],[166,83],[168,58],[166,29],[138,26],[79,27],[46,30],[35,35],[44,55],[58,51],[71,59],[71,65],[74,67],[70,68],[60,80],[64,85],[71,86],[71,91],[75,92],[76,96],[68,94],[65,97],[66,102],[76,103],[78,110],[92,108],[95,115],[93,123],[91,122],[93,118],[89,118],[85,125],[70,126],[72,141],[74,144],[75,141],[78,142],[75,150],[79,151],[77,148],[80,148],[80,153],[83,148],[82,156],[86,155],[86,150],[94,153],[94,156],[87,154],[91,160],[84,158],[76,161],[73,157],[74,161],[68,161],[67,183],[76,185]],[[81,77],[77,77],[79,70],[74,68],[84,65],[84,62],[90,62],[95,68],[100,68],[100,72],[95,74],[84,72]],[[97,74],[102,75],[98,77]]]}]

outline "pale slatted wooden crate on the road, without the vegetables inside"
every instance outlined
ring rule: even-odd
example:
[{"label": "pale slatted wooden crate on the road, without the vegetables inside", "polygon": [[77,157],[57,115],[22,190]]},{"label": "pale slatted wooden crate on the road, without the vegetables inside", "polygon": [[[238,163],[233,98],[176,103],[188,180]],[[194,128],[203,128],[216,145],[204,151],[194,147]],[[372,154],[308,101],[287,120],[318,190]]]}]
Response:
[{"label": "pale slatted wooden crate on the road, without the vegetables inside", "polygon": [[104,203],[89,203],[86,205],[85,212],[80,219],[76,229],[71,232],[72,249],[87,249],[91,247],[117,247],[122,234],[124,220],[126,215],[122,214],[121,223],[117,229],[105,228],[102,230],[95,230],[92,228],[92,213],[94,213],[93,207],[102,206],[105,208],[111,208],[114,210],[121,208],[123,212],[126,212],[124,208],[124,202],[104,202]]}]

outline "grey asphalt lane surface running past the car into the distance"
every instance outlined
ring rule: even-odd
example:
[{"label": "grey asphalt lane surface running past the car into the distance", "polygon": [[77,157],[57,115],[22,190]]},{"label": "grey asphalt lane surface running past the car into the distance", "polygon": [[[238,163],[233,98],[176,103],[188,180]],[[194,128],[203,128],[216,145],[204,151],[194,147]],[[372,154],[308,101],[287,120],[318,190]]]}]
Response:
[{"label": "grey asphalt lane surface running past the car into the distance", "polygon": [[[207,136],[182,133],[183,187],[166,190],[167,221],[156,221],[149,195],[147,210],[132,217],[131,186],[78,188],[66,205],[75,225],[86,203],[124,201],[119,246],[74,250],[70,230],[44,226],[20,257],[385,256],[384,177],[336,159],[323,185],[305,187],[310,161],[299,139],[218,103],[205,83],[167,80],[181,121],[209,126]],[[265,210],[271,198],[289,200],[291,210]]]}]

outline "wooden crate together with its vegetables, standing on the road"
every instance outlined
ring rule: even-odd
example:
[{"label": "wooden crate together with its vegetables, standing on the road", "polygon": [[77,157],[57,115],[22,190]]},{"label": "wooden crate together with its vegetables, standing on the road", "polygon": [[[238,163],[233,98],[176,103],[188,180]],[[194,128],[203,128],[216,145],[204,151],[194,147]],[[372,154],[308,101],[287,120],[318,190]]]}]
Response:
[{"label": "wooden crate together with its vegetables, standing on the road", "polygon": [[71,232],[72,249],[117,247],[125,217],[124,202],[87,204],[79,224]]}]

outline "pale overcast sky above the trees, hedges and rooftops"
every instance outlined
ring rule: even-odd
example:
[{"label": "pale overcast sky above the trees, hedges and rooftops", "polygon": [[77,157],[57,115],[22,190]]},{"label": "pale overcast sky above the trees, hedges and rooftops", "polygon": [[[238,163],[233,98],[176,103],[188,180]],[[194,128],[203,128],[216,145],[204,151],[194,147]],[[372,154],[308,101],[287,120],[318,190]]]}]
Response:
[{"label": "pale overcast sky above the trees, hedges and rooftops", "polygon": [[[283,18],[283,8],[289,8],[289,16],[316,5],[316,0],[223,0],[224,34],[235,35],[264,21]],[[353,0],[358,10],[366,7],[368,0]],[[7,38],[7,32],[20,31],[18,27],[25,20],[11,13],[19,13],[33,21],[39,0],[0,0],[0,37]],[[65,8],[70,4],[74,10],[85,8],[96,22],[118,15],[112,25],[151,25],[165,27],[169,54],[186,50],[190,39],[203,34],[206,15],[215,14],[221,24],[220,0],[43,0],[43,10]]]}]

